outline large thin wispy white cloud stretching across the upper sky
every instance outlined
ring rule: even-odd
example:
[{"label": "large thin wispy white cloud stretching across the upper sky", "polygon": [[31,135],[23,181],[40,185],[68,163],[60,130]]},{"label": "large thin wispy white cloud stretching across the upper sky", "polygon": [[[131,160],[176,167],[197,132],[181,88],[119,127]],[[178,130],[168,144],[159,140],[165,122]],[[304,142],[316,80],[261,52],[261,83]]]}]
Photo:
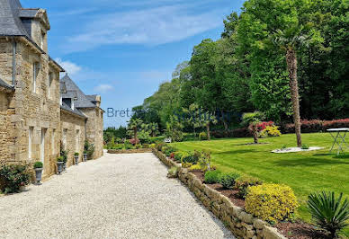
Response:
[{"label": "large thin wispy white cloud stretching across the upper sky", "polygon": [[[108,44],[160,45],[209,31],[221,25],[221,13],[190,13],[185,5],[94,15],[84,31],[67,39],[67,52]],[[68,46],[68,47],[67,47]]]}]

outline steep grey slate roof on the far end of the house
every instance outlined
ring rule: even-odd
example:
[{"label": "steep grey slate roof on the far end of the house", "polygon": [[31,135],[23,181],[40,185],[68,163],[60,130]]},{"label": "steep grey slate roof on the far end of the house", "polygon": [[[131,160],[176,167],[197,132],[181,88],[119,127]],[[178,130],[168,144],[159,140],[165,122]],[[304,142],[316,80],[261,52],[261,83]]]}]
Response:
[{"label": "steep grey slate roof on the far end of the house", "polygon": [[75,92],[76,101],[74,105],[76,108],[96,108],[97,106],[93,103],[93,99],[91,99],[91,95],[87,96],[80,88],[73,82],[73,80],[65,75],[62,79],[60,79],[60,89],[65,91],[61,91],[62,98],[72,98],[72,92]]}]

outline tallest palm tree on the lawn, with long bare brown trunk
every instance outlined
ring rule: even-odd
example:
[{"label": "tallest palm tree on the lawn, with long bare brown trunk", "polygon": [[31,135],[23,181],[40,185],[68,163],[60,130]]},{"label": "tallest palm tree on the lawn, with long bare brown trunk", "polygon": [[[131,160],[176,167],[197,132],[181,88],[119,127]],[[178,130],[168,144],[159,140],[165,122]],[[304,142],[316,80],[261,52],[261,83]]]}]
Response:
[{"label": "tallest palm tree on the lawn, with long bare brown trunk", "polygon": [[298,88],[297,77],[297,52],[296,50],[307,44],[308,39],[302,35],[303,28],[290,28],[285,31],[278,30],[273,35],[273,42],[280,47],[286,54],[287,70],[290,78],[291,102],[293,111],[293,122],[297,136],[297,146],[301,147],[301,132],[300,132],[300,94]]}]

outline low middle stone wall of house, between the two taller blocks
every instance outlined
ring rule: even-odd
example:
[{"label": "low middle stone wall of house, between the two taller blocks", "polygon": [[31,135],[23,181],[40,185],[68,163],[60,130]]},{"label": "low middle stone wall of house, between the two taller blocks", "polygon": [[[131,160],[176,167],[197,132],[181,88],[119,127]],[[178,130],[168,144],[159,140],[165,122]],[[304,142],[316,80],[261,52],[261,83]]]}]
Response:
[{"label": "low middle stone wall of house, between the two taller blocks", "polygon": [[85,118],[68,111],[61,111],[62,143],[67,150],[67,167],[74,164],[74,154],[79,153],[79,162],[82,161],[85,145]]}]

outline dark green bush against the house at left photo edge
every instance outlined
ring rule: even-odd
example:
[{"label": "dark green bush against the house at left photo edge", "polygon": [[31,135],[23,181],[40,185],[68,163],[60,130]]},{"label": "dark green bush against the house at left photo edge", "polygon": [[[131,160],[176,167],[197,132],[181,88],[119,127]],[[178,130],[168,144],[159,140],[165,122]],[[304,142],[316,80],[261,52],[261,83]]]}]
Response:
[{"label": "dark green bush against the house at left photo edge", "polygon": [[25,165],[4,165],[0,168],[0,179],[4,183],[4,193],[19,192],[22,186],[28,185],[31,175]]}]

